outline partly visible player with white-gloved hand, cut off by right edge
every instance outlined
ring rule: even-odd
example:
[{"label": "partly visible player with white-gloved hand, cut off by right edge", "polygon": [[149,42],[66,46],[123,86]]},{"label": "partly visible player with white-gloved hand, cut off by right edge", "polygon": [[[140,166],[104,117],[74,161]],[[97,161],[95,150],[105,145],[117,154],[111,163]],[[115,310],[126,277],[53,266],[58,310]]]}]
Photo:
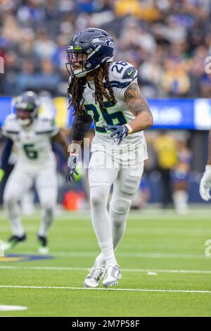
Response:
[{"label": "partly visible player with white-gloved hand, cut off by right edge", "polygon": [[210,189],[211,189],[211,129],[208,138],[207,165],[205,166],[205,172],[203,173],[203,177],[200,180],[200,187],[199,187],[200,196],[205,201],[208,201],[211,198]]}]

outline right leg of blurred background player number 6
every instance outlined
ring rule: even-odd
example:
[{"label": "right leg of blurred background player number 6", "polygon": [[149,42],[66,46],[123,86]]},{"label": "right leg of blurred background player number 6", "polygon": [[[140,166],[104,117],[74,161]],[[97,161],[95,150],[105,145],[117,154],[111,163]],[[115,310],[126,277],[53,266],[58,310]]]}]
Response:
[{"label": "right leg of blurred background player number 6", "polygon": [[36,178],[36,187],[42,208],[41,223],[37,233],[39,253],[48,254],[47,237],[51,224],[53,223],[58,194],[56,170],[54,168],[42,170]]}]

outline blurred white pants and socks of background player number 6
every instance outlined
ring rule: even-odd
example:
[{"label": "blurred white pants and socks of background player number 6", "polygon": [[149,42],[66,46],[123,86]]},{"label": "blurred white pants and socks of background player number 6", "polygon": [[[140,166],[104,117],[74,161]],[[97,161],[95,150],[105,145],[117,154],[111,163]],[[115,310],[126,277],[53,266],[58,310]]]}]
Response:
[{"label": "blurred white pants and socks of background player number 6", "polygon": [[42,220],[38,235],[46,237],[49,227],[53,222],[53,211],[56,206],[58,185],[56,170],[45,168],[37,174],[26,173],[20,167],[15,167],[4,190],[4,206],[8,214],[13,235],[18,237],[24,234],[20,220],[20,208],[18,201],[32,187],[33,182],[37,189],[42,208]]}]

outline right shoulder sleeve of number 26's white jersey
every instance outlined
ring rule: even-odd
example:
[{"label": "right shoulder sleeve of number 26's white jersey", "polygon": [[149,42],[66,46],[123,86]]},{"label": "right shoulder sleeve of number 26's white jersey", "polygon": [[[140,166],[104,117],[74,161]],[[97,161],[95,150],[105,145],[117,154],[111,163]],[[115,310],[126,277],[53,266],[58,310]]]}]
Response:
[{"label": "right shoulder sleeve of number 26's white jersey", "polygon": [[129,85],[135,83],[138,85],[138,73],[136,68],[128,63],[127,66],[123,67],[120,74],[117,75],[117,82],[114,87],[117,87],[117,96],[124,100],[124,92],[127,90]]}]

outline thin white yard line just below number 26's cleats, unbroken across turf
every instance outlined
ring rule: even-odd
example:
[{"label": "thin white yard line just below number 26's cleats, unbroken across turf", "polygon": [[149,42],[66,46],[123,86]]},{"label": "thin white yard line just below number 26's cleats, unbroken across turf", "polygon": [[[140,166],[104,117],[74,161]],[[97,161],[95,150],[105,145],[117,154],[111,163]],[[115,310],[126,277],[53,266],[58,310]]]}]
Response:
[{"label": "thin white yard line just below number 26's cleats, unbroken across turf", "polygon": [[19,286],[19,285],[0,285],[0,288],[11,289],[85,289],[91,291],[128,291],[128,292],[177,292],[177,293],[202,293],[211,294],[211,291],[203,291],[196,289],[103,289],[102,287],[91,289],[87,287],[65,287],[65,286]]}]

